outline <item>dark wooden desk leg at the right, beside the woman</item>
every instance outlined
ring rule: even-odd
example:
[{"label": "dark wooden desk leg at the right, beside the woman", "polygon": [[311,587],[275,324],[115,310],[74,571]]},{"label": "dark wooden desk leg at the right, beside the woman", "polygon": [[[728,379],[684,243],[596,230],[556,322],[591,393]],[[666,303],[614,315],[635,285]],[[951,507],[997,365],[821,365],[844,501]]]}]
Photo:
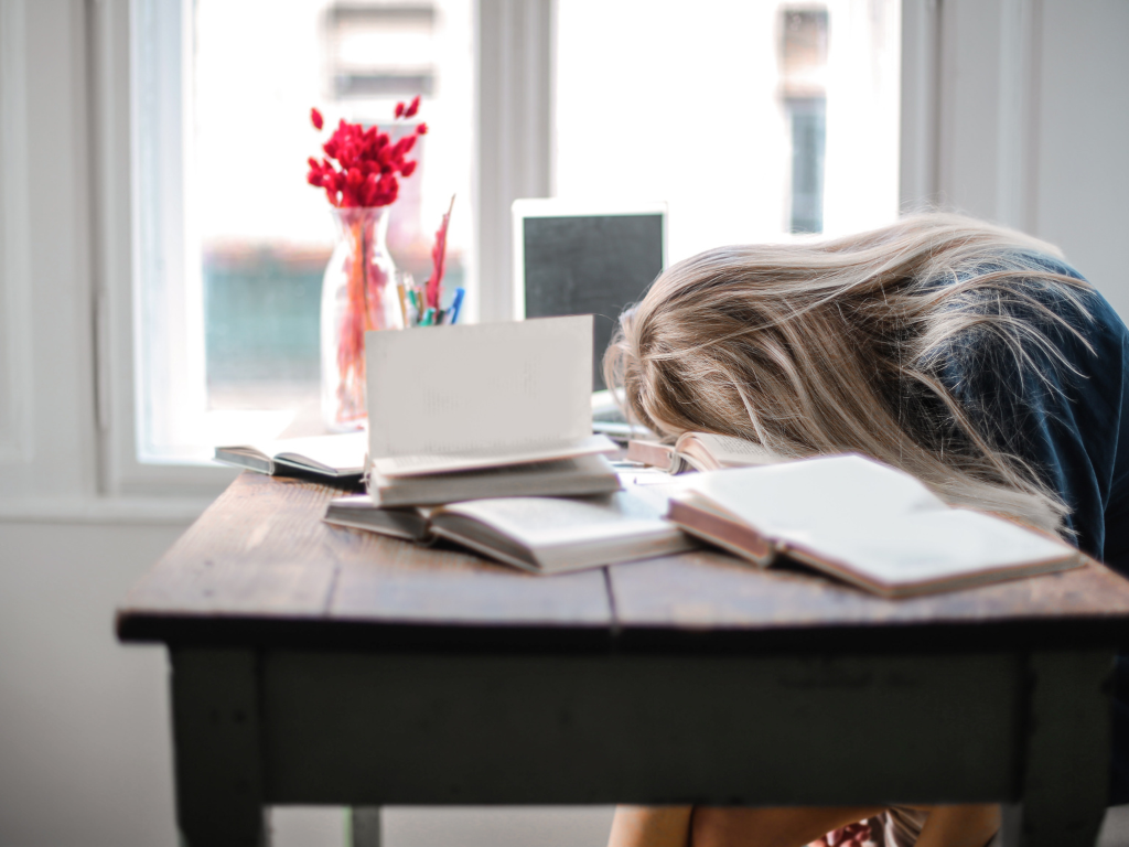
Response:
[{"label": "dark wooden desk leg at the right, beside the woman", "polygon": [[1006,809],[1007,847],[1093,847],[1105,813],[1113,653],[1035,653],[1022,809]]}]

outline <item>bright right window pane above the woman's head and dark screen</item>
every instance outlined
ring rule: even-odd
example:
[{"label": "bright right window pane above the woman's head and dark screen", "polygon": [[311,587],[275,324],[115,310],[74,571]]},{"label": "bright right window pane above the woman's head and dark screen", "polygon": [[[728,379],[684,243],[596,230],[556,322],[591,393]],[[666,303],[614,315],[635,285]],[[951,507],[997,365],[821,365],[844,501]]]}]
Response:
[{"label": "bright right window pane above the woman's head and dark screen", "polygon": [[560,0],[554,191],[667,201],[672,261],[889,222],[899,32],[896,0]]}]

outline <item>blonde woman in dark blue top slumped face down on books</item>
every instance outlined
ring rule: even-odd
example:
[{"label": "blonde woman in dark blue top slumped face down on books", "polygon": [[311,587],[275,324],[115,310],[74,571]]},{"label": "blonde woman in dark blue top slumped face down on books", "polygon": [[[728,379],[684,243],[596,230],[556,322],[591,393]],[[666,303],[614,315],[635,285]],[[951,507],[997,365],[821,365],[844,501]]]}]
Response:
[{"label": "blonde woman in dark blue top slumped face down on books", "polygon": [[[953,215],[822,243],[721,247],[664,271],[604,361],[667,436],[780,459],[858,452],[949,503],[1058,532],[1129,574],[1129,331],[1059,252]],[[1111,802],[1129,802],[1119,657]],[[879,743],[879,742],[876,742]],[[882,815],[887,844],[983,847],[996,806],[623,807],[612,847],[799,847]]]}]

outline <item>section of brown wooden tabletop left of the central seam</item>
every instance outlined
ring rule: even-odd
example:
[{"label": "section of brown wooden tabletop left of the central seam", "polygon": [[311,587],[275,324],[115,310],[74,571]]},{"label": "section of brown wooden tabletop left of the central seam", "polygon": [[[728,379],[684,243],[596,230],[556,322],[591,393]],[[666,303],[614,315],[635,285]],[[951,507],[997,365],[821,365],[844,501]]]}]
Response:
[{"label": "section of brown wooden tabletop left of the central seam", "polygon": [[373,625],[611,631],[604,571],[543,578],[453,549],[331,526],[322,516],[339,494],[242,474],[129,594],[119,634],[210,643],[217,632],[261,640],[257,631],[271,640],[303,621],[340,625],[345,639]]}]

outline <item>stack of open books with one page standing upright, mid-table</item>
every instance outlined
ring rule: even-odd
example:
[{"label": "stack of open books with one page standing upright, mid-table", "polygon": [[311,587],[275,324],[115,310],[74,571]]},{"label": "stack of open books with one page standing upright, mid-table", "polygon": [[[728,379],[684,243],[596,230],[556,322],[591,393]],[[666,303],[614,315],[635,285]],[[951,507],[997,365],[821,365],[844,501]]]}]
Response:
[{"label": "stack of open books with one page standing upright, mid-table", "polygon": [[367,495],[325,519],[443,538],[537,573],[680,552],[657,489],[629,486],[593,435],[592,316],[366,339]]}]

